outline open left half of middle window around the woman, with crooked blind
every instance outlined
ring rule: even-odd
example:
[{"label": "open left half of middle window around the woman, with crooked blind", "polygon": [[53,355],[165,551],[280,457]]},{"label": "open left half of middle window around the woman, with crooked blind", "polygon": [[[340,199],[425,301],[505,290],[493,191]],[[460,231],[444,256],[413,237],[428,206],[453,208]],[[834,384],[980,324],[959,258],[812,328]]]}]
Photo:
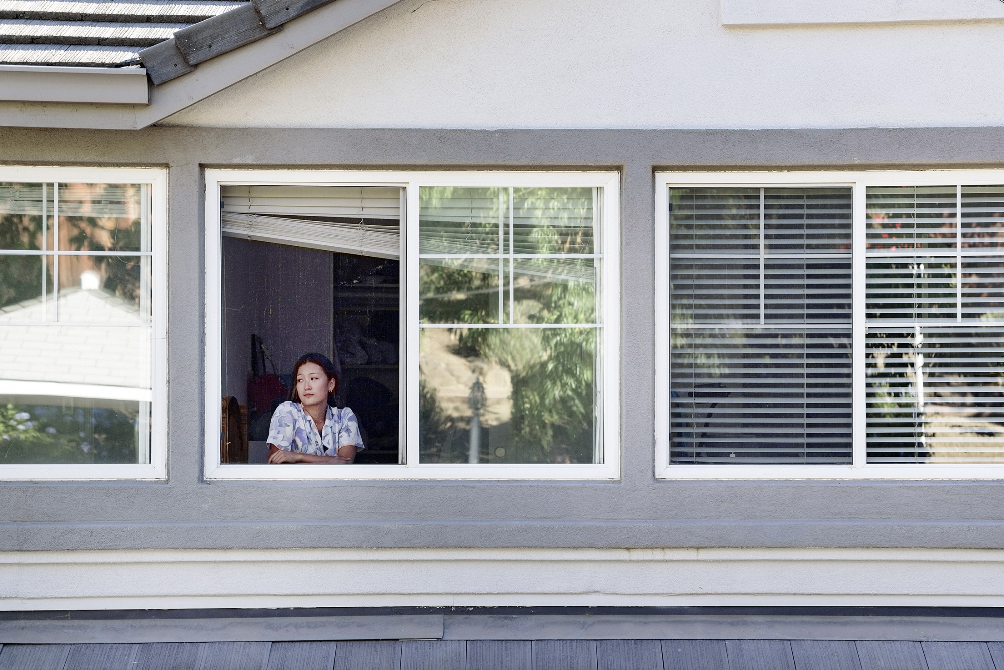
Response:
[{"label": "open left half of middle window around the woman, with crooked blind", "polygon": [[220,458],[264,463],[269,426],[310,352],[334,366],[357,463],[398,463],[400,187],[221,189],[223,394]]}]

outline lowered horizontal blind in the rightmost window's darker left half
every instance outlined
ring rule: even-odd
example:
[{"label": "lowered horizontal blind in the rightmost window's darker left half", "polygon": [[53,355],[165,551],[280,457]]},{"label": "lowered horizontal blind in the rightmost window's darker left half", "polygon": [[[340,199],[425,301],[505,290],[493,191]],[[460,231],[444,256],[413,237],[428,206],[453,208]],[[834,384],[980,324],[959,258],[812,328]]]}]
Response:
[{"label": "lowered horizontal blind in the rightmost window's darker left half", "polygon": [[671,462],[850,462],[850,189],[671,202]]}]

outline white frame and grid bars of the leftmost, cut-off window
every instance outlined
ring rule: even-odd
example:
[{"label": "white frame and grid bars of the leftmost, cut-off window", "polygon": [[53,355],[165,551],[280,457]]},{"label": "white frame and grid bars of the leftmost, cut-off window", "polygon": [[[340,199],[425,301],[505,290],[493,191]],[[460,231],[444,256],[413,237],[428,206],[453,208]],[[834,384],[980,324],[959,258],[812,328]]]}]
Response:
[{"label": "white frame and grid bars of the leftmost, cut-off window", "polygon": [[[2,255],[40,256],[43,258],[71,256],[134,257],[149,259],[150,304],[141,305],[141,314],[148,315],[149,322],[141,326],[151,327],[151,416],[150,416],[150,462],[148,463],[9,463],[0,464],[0,480],[94,480],[94,479],[164,479],[167,478],[167,331],[168,331],[168,270],[167,270],[167,217],[168,217],[168,175],[167,171],[154,168],[43,168],[35,165],[0,166],[0,182],[41,183],[58,193],[59,184],[139,184],[147,185],[144,199],[150,199],[149,240],[142,247],[150,251],[140,252],[91,252],[63,251],[47,248],[47,236],[43,231],[41,251],[3,251]],[[58,200],[53,212],[46,212],[54,222],[52,240],[58,246]],[[147,203],[144,204],[144,211]],[[47,205],[46,205],[47,207]],[[44,219],[43,219],[44,221]],[[44,224],[43,224],[44,225]],[[149,243],[149,244],[148,244]],[[58,264],[54,264],[53,291],[43,294],[44,301],[51,295],[54,304],[51,311],[43,310],[39,321],[12,321],[11,325],[42,325],[51,327],[88,325],[107,326],[106,323],[92,324],[86,321],[60,321],[58,315]],[[146,273],[143,275],[147,276]],[[41,278],[40,278],[41,279]],[[43,282],[44,288],[44,282]],[[146,287],[145,287],[146,288]],[[143,292],[147,295],[147,292]],[[145,302],[145,301],[144,301]],[[114,324],[128,326],[130,324]]]}]

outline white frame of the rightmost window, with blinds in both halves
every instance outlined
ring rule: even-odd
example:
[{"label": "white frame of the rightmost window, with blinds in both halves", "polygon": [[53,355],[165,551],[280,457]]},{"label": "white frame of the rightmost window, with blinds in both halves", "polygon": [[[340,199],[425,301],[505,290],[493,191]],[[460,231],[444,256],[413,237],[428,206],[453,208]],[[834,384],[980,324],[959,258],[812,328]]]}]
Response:
[{"label": "white frame of the rightmost window, with blinds in both halves", "polygon": [[[1004,463],[866,463],[864,392],[865,189],[888,186],[993,186],[1004,170],[861,172],[665,172],[656,174],[656,459],[660,479],[997,479]],[[850,465],[670,463],[670,189],[699,187],[851,187]]]}]

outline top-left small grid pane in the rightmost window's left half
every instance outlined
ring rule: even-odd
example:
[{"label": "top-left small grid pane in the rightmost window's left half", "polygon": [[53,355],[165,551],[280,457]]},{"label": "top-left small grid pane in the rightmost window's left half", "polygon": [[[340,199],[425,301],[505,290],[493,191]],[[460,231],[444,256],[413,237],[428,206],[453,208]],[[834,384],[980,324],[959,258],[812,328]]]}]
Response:
[{"label": "top-left small grid pane in the rightmost window's left half", "polygon": [[673,189],[673,254],[759,254],[759,189]]}]

